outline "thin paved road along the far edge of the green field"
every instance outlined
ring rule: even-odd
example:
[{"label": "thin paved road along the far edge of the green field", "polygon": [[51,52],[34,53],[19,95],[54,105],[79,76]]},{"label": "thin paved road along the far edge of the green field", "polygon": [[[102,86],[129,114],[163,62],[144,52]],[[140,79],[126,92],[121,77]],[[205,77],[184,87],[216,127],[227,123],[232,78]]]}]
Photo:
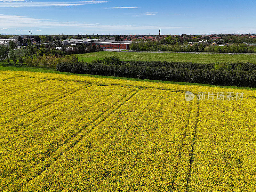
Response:
[{"label": "thin paved road along the far edge of the green field", "polygon": [[213,52],[172,52],[172,51],[122,51],[122,50],[107,50],[109,52],[140,52],[140,53],[193,53],[193,54],[220,54],[220,55],[256,55],[256,53],[213,53]]}]

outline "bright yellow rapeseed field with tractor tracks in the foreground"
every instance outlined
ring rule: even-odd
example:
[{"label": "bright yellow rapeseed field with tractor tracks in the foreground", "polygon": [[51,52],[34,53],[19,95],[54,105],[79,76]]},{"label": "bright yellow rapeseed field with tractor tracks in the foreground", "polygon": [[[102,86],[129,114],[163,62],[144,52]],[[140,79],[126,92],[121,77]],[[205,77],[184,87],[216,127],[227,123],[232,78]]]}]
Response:
[{"label": "bright yellow rapeseed field with tractor tracks in the foreground", "polygon": [[0,114],[0,191],[256,191],[253,90],[0,71]]}]

